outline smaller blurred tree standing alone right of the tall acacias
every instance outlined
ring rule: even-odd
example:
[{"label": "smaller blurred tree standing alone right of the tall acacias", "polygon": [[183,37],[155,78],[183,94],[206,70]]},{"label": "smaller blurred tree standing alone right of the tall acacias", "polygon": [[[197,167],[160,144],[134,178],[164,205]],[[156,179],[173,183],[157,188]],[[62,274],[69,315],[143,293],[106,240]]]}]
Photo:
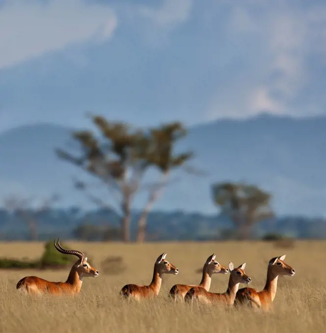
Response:
[{"label": "smaller blurred tree standing alone right of the tall acacias", "polygon": [[212,186],[213,200],[230,216],[240,239],[248,239],[252,226],[273,216],[271,194],[254,185],[218,183]]}]

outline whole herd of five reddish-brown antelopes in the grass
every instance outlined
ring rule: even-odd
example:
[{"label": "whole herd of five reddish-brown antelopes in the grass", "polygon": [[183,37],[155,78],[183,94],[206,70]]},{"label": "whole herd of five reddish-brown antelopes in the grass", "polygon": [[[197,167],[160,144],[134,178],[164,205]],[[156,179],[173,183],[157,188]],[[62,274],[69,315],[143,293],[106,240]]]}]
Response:
[{"label": "whole herd of five reddish-brown antelopes in the grass", "polygon": [[[50,282],[36,276],[27,276],[21,279],[16,288],[27,294],[78,294],[81,290],[83,277],[97,277],[99,272],[92,267],[85,255],[76,250],[67,250],[63,248],[59,239],[57,244],[54,240],[54,246],[57,251],[63,254],[75,255],[78,261],[72,266],[66,282]],[[125,299],[134,299],[140,301],[149,296],[157,296],[161,289],[162,275],[179,273],[179,269],[166,259],[166,253],[159,256],[154,264],[154,273],[152,282],[149,285],[125,285],[120,290],[120,295]],[[269,310],[274,300],[277,279],[279,275],[294,276],[295,270],[284,262],[285,255],[272,258],[267,267],[267,280],[263,290],[257,291],[254,288],[245,287],[239,289],[239,285],[249,284],[251,278],[245,273],[245,262],[238,267],[229,263],[229,267],[222,266],[215,260],[215,254],[212,254],[203,267],[203,275],[199,285],[173,285],[168,295],[173,301],[181,301],[192,304],[194,301],[206,304],[221,304],[225,306],[250,305],[255,309]],[[213,274],[230,273],[227,290],[223,293],[210,292],[211,279]]]}]

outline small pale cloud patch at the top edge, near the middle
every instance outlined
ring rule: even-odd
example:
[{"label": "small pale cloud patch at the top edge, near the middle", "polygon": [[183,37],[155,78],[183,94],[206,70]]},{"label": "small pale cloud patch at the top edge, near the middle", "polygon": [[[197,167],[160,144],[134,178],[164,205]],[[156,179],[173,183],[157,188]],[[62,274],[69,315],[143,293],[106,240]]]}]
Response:
[{"label": "small pale cloud patch at the top edge, near the middle", "polygon": [[163,0],[158,8],[139,6],[139,15],[150,19],[158,26],[169,28],[185,23],[192,8],[192,0]]}]

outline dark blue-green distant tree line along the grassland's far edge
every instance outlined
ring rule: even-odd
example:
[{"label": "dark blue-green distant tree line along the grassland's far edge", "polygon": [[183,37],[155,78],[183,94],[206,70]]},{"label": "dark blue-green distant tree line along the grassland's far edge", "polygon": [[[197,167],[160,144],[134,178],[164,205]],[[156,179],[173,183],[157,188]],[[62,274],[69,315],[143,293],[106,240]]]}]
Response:
[{"label": "dark blue-green distant tree line along the grassland's far edge", "polygon": [[[136,241],[138,220],[141,211],[132,211],[130,236]],[[34,218],[33,228],[25,220]],[[91,241],[122,240],[121,216],[115,211],[99,208],[83,211],[79,207],[69,209],[50,208],[40,211],[38,207],[17,210],[0,209],[1,240],[49,240],[79,239]],[[238,229],[229,214],[205,215],[182,211],[148,214],[146,239],[167,240],[223,240],[239,238]],[[306,216],[273,216],[250,227],[250,238],[266,236],[291,238],[326,238],[326,219]]]}]

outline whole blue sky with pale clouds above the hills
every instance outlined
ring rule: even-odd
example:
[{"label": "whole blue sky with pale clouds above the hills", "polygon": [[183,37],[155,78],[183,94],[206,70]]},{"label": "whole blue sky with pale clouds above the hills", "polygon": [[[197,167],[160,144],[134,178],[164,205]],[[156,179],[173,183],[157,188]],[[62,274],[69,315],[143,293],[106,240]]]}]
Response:
[{"label": "whole blue sky with pale clouds above the hills", "polygon": [[326,113],[325,0],[0,0],[0,132]]}]

